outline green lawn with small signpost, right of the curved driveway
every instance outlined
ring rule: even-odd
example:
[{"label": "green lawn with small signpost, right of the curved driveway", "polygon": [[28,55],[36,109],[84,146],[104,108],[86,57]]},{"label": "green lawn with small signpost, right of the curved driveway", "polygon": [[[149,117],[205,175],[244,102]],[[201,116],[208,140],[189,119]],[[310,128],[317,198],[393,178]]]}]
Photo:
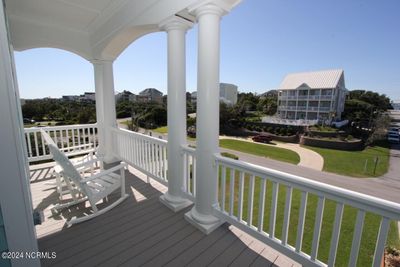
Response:
[{"label": "green lawn with small signpost, right of the curved driveway", "polygon": [[[305,146],[306,147],[306,146]],[[353,177],[378,177],[389,167],[389,148],[386,145],[368,147],[362,151],[342,151],[336,149],[310,147],[324,158],[324,171]],[[375,168],[375,158],[378,163]],[[365,164],[367,168],[364,172]]]}]

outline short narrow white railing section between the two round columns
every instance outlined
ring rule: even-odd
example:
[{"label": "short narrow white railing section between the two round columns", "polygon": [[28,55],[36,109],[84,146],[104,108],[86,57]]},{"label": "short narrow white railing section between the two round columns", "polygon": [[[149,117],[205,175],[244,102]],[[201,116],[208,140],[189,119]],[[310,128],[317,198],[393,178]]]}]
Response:
[{"label": "short narrow white railing section between the two round columns", "polygon": [[192,201],[196,198],[196,150],[189,146],[182,147],[184,166],[183,193]]}]

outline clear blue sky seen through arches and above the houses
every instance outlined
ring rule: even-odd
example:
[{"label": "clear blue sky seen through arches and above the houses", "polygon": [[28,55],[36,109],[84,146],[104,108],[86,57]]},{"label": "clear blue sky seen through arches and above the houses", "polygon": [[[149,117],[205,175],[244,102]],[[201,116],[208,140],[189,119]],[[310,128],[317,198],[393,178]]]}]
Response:
[{"label": "clear blue sky seen through arches and above the houses", "polygon": [[[346,87],[400,99],[399,0],[243,0],[221,21],[221,82],[263,93],[287,73],[342,68]],[[115,90],[166,93],[166,33],[132,43],[114,63]],[[187,91],[196,90],[197,27],[187,33]],[[20,96],[94,91],[93,68],[58,49],[15,55]]]}]

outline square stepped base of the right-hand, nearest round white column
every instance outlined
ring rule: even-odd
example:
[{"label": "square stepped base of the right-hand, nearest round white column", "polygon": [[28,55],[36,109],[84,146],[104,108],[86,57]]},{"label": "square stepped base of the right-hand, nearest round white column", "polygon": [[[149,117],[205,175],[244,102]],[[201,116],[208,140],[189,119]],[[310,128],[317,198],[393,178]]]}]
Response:
[{"label": "square stepped base of the right-hand, nearest round white column", "polygon": [[185,213],[185,219],[191,225],[193,225],[206,235],[208,235],[224,223],[224,221],[221,221],[213,215],[203,215],[198,213],[195,207]]}]

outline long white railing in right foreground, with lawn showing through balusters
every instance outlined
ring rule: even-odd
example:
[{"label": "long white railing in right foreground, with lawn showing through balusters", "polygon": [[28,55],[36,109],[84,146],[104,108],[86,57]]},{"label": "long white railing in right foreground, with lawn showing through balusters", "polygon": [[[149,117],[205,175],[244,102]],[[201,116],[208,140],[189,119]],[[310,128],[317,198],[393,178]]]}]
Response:
[{"label": "long white railing in right foreground, with lawn showing through balusters", "polygon": [[[342,222],[344,218],[349,220],[349,213],[345,213],[346,216],[343,214],[345,209],[354,216],[357,214],[356,219],[351,219],[355,221],[355,230],[342,230],[342,235],[353,235],[349,239],[352,240],[349,262],[345,265],[356,266],[360,241],[365,234],[365,215],[372,213],[374,215],[371,216],[379,216],[380,226],[379,230],[376,229],[376,240],[366,242],[375,243],[375,252],[370,253],[373,255],[363,256],[372,258],[373,266],[380,266],[389,223],[391,220],[400,220],[399,204],[227,159],[219,154],[215,155],[215,160],[219,170],[219,204],[214,207],[214,211],[222,220],[237,226],[304,266],[335,266]],[[335,211],[335,215],[332,218],[324,218],[324,207]],[[315,214],[315,217],[306,217],[306,213],[310,214],[308,212]],[[305,228],[306,224],[308,231]],[[330,224],[331,232],[327,231],[327,225]],[[281,229],[279,232],[278,225]],[[325,240],[326,236],[330,237],[323,244],[320,243],[321,229]],[[302,245],[306,235],[311,244],[304,248]],[[324,259],[319,257],[318,249],[324,252]]]}]

